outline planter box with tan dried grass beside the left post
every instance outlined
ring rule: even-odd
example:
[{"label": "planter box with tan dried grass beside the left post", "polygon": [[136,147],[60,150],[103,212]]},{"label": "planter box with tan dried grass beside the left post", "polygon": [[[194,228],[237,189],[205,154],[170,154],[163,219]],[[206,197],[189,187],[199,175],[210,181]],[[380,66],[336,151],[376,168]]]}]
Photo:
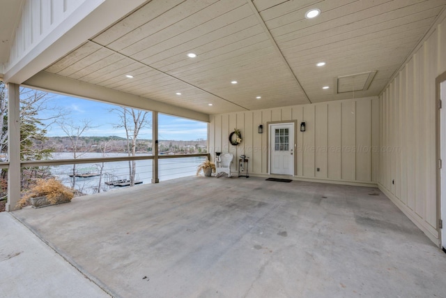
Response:
[{"label": "planter box with tan dried grass beside the left post", "polygon": [[34,208],[70,202],[75,196],[71,188],[54,178],[38,179],[36,184],[19,200],[20,207],[31,204]]}]

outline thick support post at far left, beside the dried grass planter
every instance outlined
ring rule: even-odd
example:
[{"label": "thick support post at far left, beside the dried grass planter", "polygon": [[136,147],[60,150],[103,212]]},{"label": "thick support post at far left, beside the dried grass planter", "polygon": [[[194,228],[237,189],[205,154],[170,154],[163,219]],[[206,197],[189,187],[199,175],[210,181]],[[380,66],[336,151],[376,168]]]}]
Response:
[{"label": "thick support post at far left, beside the dried grass planter", "polygon": [[8,202],[6,211],[20,209],[20,86],[8,84]]}]

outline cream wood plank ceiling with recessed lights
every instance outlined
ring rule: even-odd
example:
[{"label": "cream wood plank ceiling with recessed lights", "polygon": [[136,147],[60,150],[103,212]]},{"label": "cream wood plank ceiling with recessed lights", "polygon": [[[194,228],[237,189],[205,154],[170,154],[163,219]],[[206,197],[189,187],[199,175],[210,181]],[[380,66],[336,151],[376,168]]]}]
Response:
[{"label": "cream wood plank ceiling with recessed lights", "polygon": [[[335,78],[369,71],[376,71],[374,80],[355,97],[376,96],[445,6],[446,0],[153,0],[45,71],[207,114],[351,98],[352,92],[337,94]],[[306,19],[310,8],[321,15]],[[317,67],[320,61],[325,66]]]}]

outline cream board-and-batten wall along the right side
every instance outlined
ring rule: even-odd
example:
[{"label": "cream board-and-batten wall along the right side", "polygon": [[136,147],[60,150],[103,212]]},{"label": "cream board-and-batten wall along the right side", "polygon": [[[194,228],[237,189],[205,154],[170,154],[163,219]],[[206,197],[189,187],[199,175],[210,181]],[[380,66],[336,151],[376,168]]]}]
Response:
[{"label": "cream board-and-batten wall along the right side", "polygon": [[444,15],[380,95],[385,150],[378,186],[436,244],[436,77],[446,71]]}]

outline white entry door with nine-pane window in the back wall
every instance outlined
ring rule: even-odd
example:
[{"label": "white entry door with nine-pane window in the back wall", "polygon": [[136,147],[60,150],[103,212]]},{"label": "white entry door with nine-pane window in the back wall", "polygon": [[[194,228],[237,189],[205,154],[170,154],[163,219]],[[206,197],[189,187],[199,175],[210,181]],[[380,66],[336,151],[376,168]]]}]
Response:
[{"label": "white entry door with nine-pane window in the back wall", "polygon": [[294,174],[294,124],[270,124],[270,174]]}]

